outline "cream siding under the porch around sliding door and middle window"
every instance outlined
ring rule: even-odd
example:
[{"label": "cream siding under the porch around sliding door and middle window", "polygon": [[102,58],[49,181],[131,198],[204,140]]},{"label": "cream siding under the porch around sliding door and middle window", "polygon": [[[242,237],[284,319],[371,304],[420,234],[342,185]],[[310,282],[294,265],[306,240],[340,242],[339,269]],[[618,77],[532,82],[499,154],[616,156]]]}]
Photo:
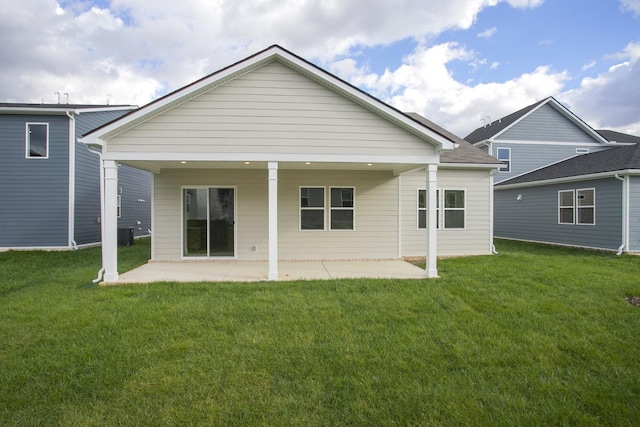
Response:
[{"label": "cream siding under the porch around sliding door and middle window", "polygon": [[[281,260],[389,259],[398,256],[397,177],[391,172],[278,171],[278,254]],[[350,187],[344,183],[351,184]],[[181,188],[237,188],[239,260],[268,259],[267,170],[163,170],[154,184],[154,259],[181,259]],[[357,229],[301,231],[300,188],[357,188]],[[415,191],[415,190],[414,190]],[[415,193],[414,193],[415,194]],[[326,199],[325,199],[326,205]],[[327,208],[328,209],[328,208]],[[328,228],[328,227],[327,227]],[[253,246],[256,247],[253,250]]]}]

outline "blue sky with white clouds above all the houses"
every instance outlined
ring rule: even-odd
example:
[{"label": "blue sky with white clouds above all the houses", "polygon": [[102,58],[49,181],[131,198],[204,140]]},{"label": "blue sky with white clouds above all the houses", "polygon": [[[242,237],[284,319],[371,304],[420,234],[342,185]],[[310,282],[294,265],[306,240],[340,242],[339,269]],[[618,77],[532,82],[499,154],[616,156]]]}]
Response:
[{"label": "blue sky with white clouds above all the houses", "polygon": [[640,0],[21,0],[0,101],[143,105],[280,44],[465,136],[554,96],[640,135]]}]

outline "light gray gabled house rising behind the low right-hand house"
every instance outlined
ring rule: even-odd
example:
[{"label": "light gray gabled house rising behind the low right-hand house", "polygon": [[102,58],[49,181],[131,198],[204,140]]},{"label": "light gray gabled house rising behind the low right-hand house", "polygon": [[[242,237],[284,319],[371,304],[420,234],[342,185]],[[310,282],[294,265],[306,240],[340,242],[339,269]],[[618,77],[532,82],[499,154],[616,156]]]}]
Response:
[{"label": "light gray gabled house rising behind the low right-hand house", "polygon": [[617,146],[553,97],[487,123],[464,139],[503,162],[494,177],[496,184],[579,154]]}]

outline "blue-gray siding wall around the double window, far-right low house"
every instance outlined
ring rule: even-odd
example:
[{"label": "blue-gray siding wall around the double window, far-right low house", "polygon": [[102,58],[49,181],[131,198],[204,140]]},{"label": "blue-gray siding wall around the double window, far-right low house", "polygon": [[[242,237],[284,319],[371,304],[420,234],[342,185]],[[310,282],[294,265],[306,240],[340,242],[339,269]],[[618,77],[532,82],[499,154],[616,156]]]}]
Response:
[{"label": "blue-gray siding wall around the double window, far-right low house", "polygon": [[[494,235],[615,250],[622,241],[621,184],[611,178],[495,191]],[[558,191],[582,188],[596,190],[596,224],[558,224]]]}]

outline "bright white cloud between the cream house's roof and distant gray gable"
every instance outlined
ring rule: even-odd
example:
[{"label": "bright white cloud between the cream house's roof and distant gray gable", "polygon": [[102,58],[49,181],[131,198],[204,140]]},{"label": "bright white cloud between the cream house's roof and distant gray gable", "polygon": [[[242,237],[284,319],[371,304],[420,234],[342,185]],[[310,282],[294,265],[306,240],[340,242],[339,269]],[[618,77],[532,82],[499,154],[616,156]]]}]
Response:
[{"label": "bright white cloud between the cream house's roof and distant gray gable", "polygon": [[503,83],[464,84],[456,81],[447,68],[456,60],[471,63],[474,54],[455,43],[419,46],[399,68],[387,70],[375,81],[367,73],[368,89],[402,111],[418,112],[466,136],[483,117],[497,119],[558,93],[568,78],[564,72],[541,66]]}]

